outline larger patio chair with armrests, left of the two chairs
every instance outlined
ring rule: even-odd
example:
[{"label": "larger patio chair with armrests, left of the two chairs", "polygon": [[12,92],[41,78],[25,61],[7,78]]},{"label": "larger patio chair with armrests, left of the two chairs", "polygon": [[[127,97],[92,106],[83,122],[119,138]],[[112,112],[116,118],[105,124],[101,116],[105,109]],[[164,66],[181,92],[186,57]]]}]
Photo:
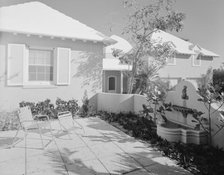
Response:
[{"label": "larger patio chair with armrests, left of the two chairs", "polygon": [[31,109],[30,107],[26,106],[26,107],[22,107],[18,110],[18,119],[19,119],[19,124],[20,127],[18,128],[13,141],[12,141],[12,145],[11,148],[14,147],[17,143],[15,143],[15,139],[20,131],[20,129],[24,132],[24,139],[26,140],[26,137],[28,135],[29,131],[32,130],[38,130],[38,133],[40,135],[40,139],[41,139],[41,144],[42,144],[42,148],[44,149],[47,145],[44,146],[44,142],[43,142],[43,137],[42,137],[42,129],[46,129],[46,126],[49,126],[50,129],[50,134],[52,139],[50,139],[50,141],[52,141],[54,139],[53,133],[52,133],[52,127],[51,127],[51,123],[49,121],[49,117],[47,115],[35,115],[33,116],[31,113]]}]

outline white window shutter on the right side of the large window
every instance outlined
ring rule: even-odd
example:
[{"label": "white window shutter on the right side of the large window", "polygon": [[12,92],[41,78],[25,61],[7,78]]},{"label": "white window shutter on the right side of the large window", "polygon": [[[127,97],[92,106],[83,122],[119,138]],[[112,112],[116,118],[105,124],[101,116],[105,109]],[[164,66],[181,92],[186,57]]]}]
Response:
[{"label": "white window shutter on the right side of the large window", "polygon": [[55,59],[55,82],[57,85],[69,85],[70,84],[70,48],[56,48]]}]

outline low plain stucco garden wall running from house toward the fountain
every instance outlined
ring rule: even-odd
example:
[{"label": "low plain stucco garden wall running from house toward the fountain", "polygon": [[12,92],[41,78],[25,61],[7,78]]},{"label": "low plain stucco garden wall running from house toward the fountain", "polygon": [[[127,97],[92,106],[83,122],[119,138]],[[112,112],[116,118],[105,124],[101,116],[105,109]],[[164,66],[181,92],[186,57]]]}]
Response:
[{"label": "low plain stucco garden wall running from house toward the fountain", "polygon": [[90,98],[89,103],[95,111],[139,113],[143,110],[142,105],[147,104],[147,100],[138,94],[97,93]]}]

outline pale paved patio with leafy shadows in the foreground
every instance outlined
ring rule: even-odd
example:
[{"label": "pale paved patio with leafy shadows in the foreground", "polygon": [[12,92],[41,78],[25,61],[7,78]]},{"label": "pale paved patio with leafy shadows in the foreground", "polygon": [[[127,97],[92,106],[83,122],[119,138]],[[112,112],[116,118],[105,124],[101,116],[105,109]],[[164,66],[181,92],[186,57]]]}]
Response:
[{"label": "pale paved patio with leafy shadows in the foreground", "polygon": [[[37,133],[29,133],[26,140],[20,132],[14,148],[6,149],[15,131],[0,132],[1,175],[190,175],[174,161],[153,150],[99,118],[77,119],[78,127],[71,134],[58,132],[53,122],[53,141],[44,137],[44,150]],[[57,130],[56,130],[57,129]]]}]

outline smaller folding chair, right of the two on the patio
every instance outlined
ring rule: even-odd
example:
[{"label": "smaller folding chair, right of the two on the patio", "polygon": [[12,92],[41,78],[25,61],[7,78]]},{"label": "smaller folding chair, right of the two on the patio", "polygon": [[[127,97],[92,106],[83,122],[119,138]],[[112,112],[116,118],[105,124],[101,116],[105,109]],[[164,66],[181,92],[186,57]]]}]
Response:
[{"label": "smaller folding chair, right of the two on the patio", "polygon": [[85,132],[82,125],[80,125],[76,120],[73,119],[72,113],[70,111],[59,112],[58,121],[59,121],[61,130],[66,131],[70,139],[72,139],[72,137],[70,135],[69,129],[71,129],[71,127],[75,128],[74,122],[80,127],[80,129],[82,129]]}]

